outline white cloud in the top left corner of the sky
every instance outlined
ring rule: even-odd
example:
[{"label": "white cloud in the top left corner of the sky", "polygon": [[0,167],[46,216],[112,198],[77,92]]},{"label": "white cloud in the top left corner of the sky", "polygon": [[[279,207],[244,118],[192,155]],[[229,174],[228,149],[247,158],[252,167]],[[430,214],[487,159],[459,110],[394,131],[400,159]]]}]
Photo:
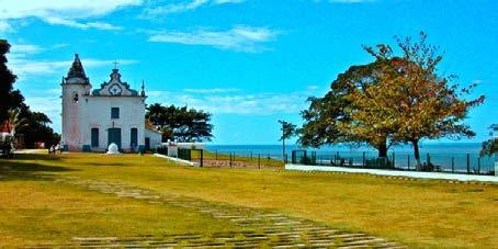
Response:
[{"label": "white cloud in the top left corner of the sky", "polygon": [[116,30],[118,27],[103,22],[79,22],[99,18],[121,8],[142,4],[142,0],[0,0],[0,31],[9,27],[9,20],[37,18],[44,22],[78,29]]}]

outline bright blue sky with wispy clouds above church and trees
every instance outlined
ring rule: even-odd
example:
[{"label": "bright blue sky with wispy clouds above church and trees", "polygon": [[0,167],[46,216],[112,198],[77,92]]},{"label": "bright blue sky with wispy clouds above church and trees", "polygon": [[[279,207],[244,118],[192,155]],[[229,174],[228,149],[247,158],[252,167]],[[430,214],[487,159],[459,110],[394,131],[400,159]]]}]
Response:
[{"label": "bright blue sky with wispy clouds above church and trees", "polygon": [[[60,131],[60,79],[80,54],[94,87],[116,59],[148,103],[213,113],[216,144],[278,144],[278,120],[301,124],[310,95],[372,61],[361,45],[429,34],[440,70],[479,86],[466,121],[488,138],[497,123],[498,2],[494,0],[0,0],[0,37],[33,110]],[[445,139],[441,142],[448,142]]]}]

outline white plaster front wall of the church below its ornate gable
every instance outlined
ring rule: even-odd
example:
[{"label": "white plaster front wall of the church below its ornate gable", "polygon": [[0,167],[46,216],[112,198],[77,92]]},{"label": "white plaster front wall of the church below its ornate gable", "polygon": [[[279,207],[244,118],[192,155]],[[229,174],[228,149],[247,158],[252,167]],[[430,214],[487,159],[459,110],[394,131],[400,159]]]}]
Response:
[{"label": "white plaster front wall of the church below its ornate gable", "polygon": [[[121,128],[123,150],[131,149],[132,128],[137,128],[138,145],[145,145],[145,98],[143,97],[84,97],[81,101],[80,117],[81,145],[91,145],[91,128],[99,128],[99,147],[107,148],[107,129]],[[120,109],[120,118],[111,118],[111,107]]]}]

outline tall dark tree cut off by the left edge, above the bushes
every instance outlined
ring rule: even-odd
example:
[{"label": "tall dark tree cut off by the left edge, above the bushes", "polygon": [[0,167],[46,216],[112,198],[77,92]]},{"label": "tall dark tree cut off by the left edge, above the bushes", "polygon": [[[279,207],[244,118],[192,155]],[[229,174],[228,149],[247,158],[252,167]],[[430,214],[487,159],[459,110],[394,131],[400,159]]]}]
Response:
[{"label": "tall dark tree cut off by the left edge, above the bushes", "polygon": [[8,110],[19,107],[22,103],[22,95],[13,89],[15,76],[7,67],[7,54],[10,44],[5,39],[0,39],[0,124],[8,120]]}]

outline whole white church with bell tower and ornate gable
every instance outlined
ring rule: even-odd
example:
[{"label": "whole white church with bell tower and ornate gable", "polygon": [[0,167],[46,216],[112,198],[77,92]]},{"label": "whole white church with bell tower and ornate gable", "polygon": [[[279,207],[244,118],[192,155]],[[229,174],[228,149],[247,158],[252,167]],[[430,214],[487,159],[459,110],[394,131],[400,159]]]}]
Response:
[{"label": "whole white church with bell tower and ornate gable", "polygon": [[70,151],[105,151],[112,143],[122,151],[144,151],[161,143],[161,134],[147,127],[142,91],[121,80],[114,68],[109,82],[92,90],[78,54],[63,78],[61,146]]}]

